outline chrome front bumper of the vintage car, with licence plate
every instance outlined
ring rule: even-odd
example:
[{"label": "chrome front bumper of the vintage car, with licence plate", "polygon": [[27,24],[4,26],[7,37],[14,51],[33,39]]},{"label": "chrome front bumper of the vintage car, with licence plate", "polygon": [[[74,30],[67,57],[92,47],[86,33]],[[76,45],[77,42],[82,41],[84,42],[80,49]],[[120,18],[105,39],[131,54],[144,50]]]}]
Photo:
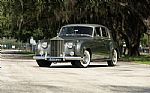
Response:
[{"label": "chrome front bumper of the vintage car, with licence plate", "polygon": [[63,61],[73,61],[73,60],[83,60],[82,57],[51,57],[51,56],[33,56],[35,60],[47,60],[52,62],[63,62]]}]

